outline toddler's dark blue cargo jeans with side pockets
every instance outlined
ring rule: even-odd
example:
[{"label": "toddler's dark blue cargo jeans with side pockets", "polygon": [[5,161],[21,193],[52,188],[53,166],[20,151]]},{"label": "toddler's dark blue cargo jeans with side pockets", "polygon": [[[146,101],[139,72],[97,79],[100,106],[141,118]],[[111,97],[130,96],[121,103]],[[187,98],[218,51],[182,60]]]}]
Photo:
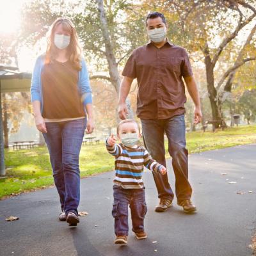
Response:
[{"label": "toddler's dark blue cargo jeans with side pockets", "polygon": [[116,236],[128,236],[128,205],[131,209],[132,231],[144,231],[144,218],[147,213],[144,189],[123,189],[114,185],[112,216],[115,218]]}]

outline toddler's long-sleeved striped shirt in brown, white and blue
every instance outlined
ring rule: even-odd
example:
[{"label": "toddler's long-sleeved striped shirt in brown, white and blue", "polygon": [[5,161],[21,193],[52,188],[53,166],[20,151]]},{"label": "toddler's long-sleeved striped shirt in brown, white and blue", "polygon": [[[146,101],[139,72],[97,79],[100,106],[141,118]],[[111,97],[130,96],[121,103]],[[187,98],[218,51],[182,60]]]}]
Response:
[{"label": "toddler's long-sleeved striped shirt in brown, white and blue", "polygon": [[141,146],[129,148],[120,143],[111,147],[106,142],[106,147],[109,154],[115,156],[114,183],[124,189],[144,188],[142,180],[144,166],[152,172],[157,172],[163,167]]}]

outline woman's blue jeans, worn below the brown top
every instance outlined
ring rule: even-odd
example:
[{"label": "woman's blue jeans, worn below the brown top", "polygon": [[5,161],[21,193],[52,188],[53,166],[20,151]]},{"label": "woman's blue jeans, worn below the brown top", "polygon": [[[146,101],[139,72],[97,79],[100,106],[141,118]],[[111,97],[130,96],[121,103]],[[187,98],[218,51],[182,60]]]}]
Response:
[{"label": "woman's blue jeans, worn below the brown top", "polygon": [[61,211],[74,212],[80,200],[79,153],[83,142],[86,118],[45,123],[44,133],[55,186],[60,195]]}]

